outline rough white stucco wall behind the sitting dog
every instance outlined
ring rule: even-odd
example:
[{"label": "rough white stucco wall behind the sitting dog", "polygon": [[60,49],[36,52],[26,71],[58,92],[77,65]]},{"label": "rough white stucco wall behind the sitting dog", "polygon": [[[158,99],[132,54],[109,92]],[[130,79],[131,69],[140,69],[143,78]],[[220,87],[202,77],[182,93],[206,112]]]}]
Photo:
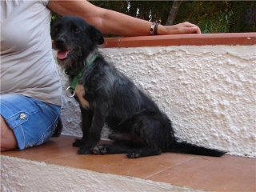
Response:
[{"label": "rough white stucco wall behind the sitting dog", "polygon": [[[256,157],[256,46],[101,51],[166,112],[178,138],[229,154]],[[66,74],[60,74],[66,89]],[[79,107],[65,93],[62,120],[63,134],[82,136]]]}]

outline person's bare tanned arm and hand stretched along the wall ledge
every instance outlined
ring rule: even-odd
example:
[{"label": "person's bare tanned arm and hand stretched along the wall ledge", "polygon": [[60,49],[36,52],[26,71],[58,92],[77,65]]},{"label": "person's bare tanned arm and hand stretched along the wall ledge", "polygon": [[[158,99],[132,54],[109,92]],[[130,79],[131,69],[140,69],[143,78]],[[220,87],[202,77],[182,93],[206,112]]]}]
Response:
[{"label": "person's bare tanned arm and hand stretched along the wall ledge", "polygon": [[[86,0],[60,1],[51,0],[50,10],[60,15],[74,15],[84,18],[86,22],[102,30],[104,34],[119,34],[125,36],[149,35],[151,22],[130,17],[113,10],[102,9]],[[191,34],[201,33],[198,26],[183,22],[174,26],[158,25],[158,34]]]}]

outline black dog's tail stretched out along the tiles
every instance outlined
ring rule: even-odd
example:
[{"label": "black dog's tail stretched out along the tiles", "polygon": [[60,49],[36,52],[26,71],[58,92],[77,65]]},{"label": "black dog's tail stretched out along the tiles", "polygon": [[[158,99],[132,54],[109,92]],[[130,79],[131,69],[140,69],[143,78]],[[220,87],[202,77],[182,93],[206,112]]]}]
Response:
[{"label": "black dog's tail stretched out along the tiles", "polygon": [[169,152],[199,154],[212,157],[221,157],[223,154],[226,154],[226,152],[222,150],[212,150],[203,146],[196,146],[188,142],[173,142],[170,146]]}]

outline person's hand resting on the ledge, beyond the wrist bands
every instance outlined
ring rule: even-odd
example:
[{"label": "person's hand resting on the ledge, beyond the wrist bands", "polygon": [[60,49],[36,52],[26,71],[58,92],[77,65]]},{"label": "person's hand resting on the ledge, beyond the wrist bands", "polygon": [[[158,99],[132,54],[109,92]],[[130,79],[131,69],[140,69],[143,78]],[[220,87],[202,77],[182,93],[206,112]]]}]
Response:
[{"label": "person's hand resting on the ledge, beyond the wrist bands", "polygon": [[201,30],[190,22],[182,22],[174,26],[159,25],[158,34],[201,34]]}]

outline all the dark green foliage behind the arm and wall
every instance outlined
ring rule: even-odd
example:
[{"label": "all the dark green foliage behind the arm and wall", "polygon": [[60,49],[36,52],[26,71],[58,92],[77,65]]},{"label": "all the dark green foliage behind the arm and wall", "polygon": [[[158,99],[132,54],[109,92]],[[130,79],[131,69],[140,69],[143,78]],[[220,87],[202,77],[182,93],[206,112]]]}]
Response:
[{"label": "all the dark green foliage behind the arm and wall", "polygon": [[[165,25],[173,1],[90,1],[115,10]],[[58,18],[53,14],[52,21]],[[239,33],[256,31],[256,1],[184,1],[174,24],[192,22],[202,33]]]}]

